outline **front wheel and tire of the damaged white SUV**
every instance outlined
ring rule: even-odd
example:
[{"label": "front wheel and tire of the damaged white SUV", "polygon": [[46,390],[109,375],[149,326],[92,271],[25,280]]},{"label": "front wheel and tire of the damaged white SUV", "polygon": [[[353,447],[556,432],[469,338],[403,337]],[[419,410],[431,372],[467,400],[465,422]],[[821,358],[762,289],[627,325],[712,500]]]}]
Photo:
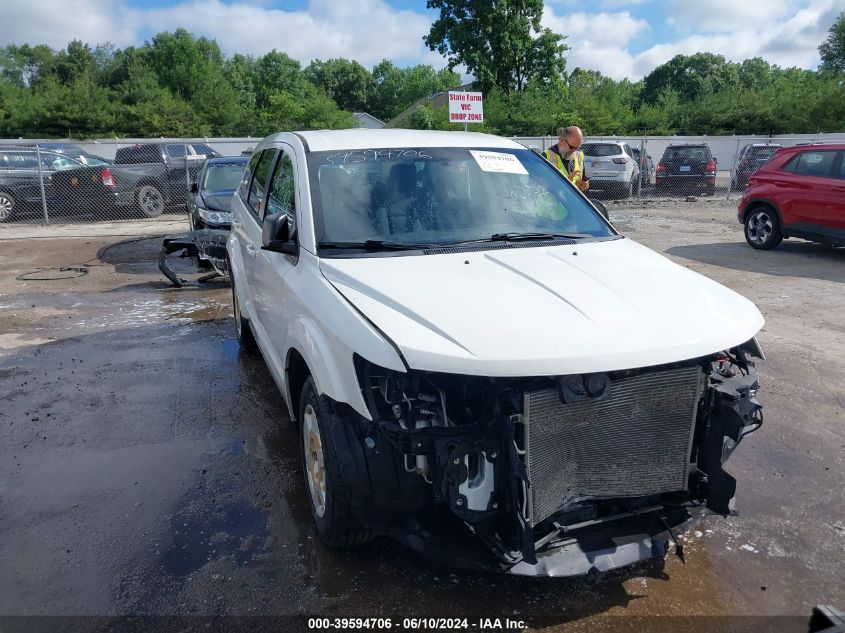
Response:
[{"label": "front wheel and tire of the damaged white SUV", "polygon": [[337,448],[330,431],[337,419],[331,401],[317,394],[309,376],[299,399],[302,466],[311,517],[320,539],[329,547],[348,549],[372,539],[372,531],[361,525],[352,510],[352,499],[340,468]]}]

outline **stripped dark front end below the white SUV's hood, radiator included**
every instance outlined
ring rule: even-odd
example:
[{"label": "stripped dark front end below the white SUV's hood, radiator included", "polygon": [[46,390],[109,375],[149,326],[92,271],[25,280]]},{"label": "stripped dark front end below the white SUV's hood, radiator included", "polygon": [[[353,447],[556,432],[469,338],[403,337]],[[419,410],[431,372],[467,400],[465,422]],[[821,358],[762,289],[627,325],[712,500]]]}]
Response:
[{"label": "stripped dark front end below the white SUV's hood, radiator included", "polygon": [[[356,357],[373,420],[336,405],[332,436],[362,523],[450,565],[533,576],[663,556],[709,509],[760,428],[756,341],[671,366],[494,379]],[[679,555],[682,556],[681,552]]]}]

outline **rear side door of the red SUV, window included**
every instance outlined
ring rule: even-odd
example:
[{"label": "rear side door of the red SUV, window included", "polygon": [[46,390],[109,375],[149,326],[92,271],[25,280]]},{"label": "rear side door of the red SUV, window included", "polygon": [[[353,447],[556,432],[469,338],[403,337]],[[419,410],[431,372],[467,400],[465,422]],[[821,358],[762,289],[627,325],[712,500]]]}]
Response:
[{"label": "rear side door of the red SUV, window included", "polygon": [[809,149],[792,158],[772,179],[783,224],[796,231],[822,230],[831,201],[836,150]]}]

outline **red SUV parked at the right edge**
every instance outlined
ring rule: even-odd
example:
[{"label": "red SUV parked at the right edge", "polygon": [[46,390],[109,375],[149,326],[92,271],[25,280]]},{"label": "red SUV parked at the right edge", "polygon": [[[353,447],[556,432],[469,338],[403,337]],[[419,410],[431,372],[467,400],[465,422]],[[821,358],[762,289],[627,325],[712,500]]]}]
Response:
[{"label": "red SUV parked at the right edge", "polygon": [[779,149],[748,179],[739,221],[752,248],[785,237],[845,245],[845,144]]}]

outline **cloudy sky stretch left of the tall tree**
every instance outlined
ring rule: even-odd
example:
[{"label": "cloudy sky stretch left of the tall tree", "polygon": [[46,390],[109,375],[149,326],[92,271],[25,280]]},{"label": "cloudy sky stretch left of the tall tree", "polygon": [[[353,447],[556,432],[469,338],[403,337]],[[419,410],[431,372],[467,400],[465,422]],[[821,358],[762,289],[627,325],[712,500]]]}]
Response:
[{"label": "cloudy sky stretch left of the tall tree", "polygon": [[423,44],[428,16],[394,9],[383,0],[311,0],[307,10],[282,11],[263,3],[188,0],[171,7],[128,9],[102,0],[0,0],[0,46],[46,43],[63,48],[74,38],[91,44],[139,44],[140,33],[184,28],[217,40],[227,54],[283,51],[304,64],[346,57],[370,67],[387,58],[399,63],[445,60]]}]

